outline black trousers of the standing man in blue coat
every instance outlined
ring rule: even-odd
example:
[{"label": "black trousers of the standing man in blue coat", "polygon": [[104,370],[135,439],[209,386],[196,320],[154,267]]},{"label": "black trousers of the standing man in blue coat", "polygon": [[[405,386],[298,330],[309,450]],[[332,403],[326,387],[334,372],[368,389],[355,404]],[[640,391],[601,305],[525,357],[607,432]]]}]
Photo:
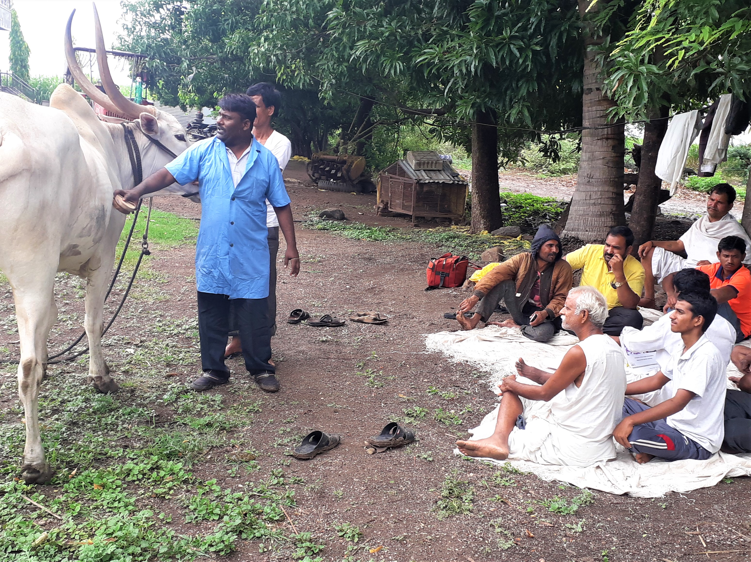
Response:
[{"label": "black trousers of the standing man in blue coat", "polygon": [[252,375],[273,373],[269,304],[267,298],[234,298],[198,292],[198,334],[201,337],[201,368],[214,376],[229,379],[225,347],[230,323],[230,303],[236,313],[237,328],[243,339],[245,367]]}]

